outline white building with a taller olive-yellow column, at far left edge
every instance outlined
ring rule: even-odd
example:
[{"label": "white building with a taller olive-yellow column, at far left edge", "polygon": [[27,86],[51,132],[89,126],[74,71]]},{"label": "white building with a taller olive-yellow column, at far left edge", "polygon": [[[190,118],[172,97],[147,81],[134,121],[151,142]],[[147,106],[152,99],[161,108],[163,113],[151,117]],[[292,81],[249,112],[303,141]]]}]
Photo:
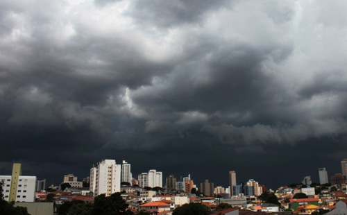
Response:
[{"label": "white building with a taller olive-yellow column, at far left edge", "polygon": [[12,175],[0,175],[3,198],[8,202],[35,202],[36,176],[24,176],[22,164],[15,163]]}]

